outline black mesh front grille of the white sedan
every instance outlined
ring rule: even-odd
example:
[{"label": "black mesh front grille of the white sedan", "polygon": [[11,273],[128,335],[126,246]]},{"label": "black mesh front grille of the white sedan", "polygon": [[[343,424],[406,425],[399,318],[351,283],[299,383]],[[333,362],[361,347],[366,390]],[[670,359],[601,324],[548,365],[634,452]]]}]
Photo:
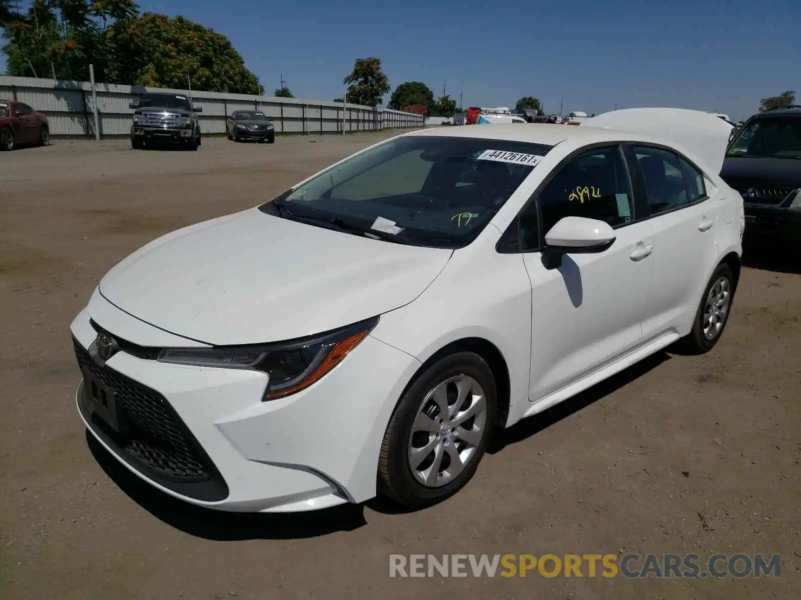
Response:
[{"label": "black mesh front grille of the white sedan", "polygon": [[127,424],[120,434],[96,415],[89,415],[93,429],[104,441],[131,466],[165,487],[195,498],[227,497],[227,486],[219,472],[167,399],[107,366],[99,366],[83,346],[74,339],[73,343],[78,366],[115,391],[118,416]]}]

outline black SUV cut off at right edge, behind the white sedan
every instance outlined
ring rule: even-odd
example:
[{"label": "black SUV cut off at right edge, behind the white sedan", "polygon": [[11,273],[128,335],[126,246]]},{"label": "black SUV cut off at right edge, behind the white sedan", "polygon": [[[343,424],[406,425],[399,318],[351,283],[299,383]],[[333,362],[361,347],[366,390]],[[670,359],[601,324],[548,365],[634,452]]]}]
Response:
[{"label": "black SUV cut off at right edge, behind the white sedan", "polygon": [[743,195],[745,246],[801,251],[801,106],[755,114],[729,143],[720,176]]}]

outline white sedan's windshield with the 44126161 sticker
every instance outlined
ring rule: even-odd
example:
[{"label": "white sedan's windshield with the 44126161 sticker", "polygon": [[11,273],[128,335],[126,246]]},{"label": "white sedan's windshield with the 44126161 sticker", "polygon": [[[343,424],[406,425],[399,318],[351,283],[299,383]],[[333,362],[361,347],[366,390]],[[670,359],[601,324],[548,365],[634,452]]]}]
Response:
[{"label": "white sedan's windshield with the 44126161 sticker", "polygon": [[[274,200],[288,218],[396,234],[420,246],[466,246],[553,146],[400,137],[349,158]],[[272,201],[261,207],[276,210]]]}]

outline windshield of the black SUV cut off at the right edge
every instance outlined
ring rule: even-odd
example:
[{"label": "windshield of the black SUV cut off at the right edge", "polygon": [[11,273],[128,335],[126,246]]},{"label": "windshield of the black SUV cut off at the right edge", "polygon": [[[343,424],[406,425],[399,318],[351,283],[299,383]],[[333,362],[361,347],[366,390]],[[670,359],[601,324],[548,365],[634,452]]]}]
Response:
[{"label": "windshield of the black SUV cut off at the right edge", "polygon": [[755,118],[739,131],[726,155],[801,158],[801,117]]}]

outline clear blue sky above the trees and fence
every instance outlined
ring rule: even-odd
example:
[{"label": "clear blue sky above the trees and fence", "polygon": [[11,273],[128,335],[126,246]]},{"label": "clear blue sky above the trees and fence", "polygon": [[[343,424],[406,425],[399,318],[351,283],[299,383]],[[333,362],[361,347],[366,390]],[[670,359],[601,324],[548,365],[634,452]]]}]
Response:
[{"label": "clear blue sky above the trees and fence", "polygon": [[[381,58],[392,88],[425,82],[463,106],[540,98],[547,112],[615,106],[722,110],[801,96],[799,0],[353,2],[139,0],[228,36],[272,93],[341,96],[355,58]],[[386,98],[388,100],[388,97]],[[798,98],[801,102],[801,98]]]}]

